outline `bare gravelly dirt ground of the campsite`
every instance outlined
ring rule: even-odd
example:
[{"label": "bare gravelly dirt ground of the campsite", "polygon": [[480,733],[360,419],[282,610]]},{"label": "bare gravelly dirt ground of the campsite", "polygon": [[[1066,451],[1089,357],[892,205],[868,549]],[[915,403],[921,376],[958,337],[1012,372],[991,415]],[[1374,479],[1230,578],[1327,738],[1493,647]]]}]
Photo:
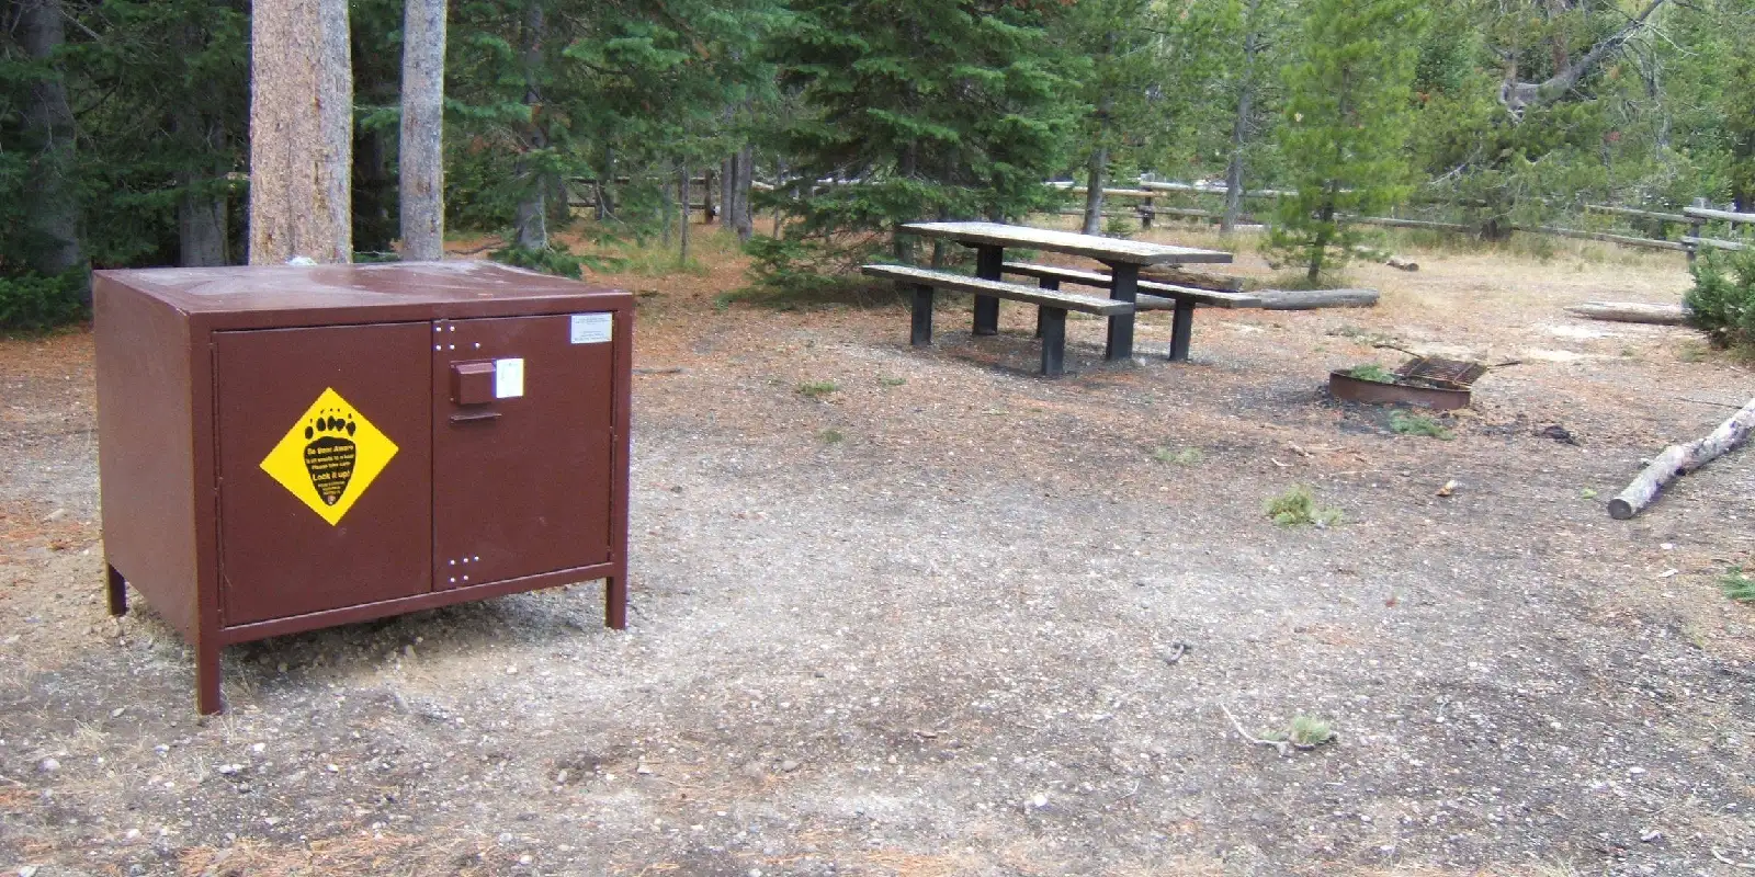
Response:
[{"label": "bare gravelly dirt ground of the campsite", "polygon": [[[735,258],[598,277],[648,370],[630,628],[586,582],[240,645],[211,719],[102,605],[90,335],[0,342],[0,873],[1748,873],[1755,467],[1604,502],[1750,370],[1560,310],[1680,258],[1409,254],[1376,309],[1202,310],[1192,363],[1074,319],[1057,381],[1021,307],[916,351],[893,303],[725,307]],[[1323,389],[1386,339],[1523,365],[1395,435]],[[1271,523],[1295,484],[1343,521]]]}]

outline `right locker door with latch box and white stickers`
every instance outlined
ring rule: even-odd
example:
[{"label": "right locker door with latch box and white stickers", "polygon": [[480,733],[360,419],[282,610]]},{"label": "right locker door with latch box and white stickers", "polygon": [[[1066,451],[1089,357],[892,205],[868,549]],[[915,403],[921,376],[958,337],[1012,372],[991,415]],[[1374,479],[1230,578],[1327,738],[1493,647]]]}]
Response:
[{"label": "right locker door with latch box and white stickers", "polygon": [[433,323],[433,588],[609,560],[609,317]]}]

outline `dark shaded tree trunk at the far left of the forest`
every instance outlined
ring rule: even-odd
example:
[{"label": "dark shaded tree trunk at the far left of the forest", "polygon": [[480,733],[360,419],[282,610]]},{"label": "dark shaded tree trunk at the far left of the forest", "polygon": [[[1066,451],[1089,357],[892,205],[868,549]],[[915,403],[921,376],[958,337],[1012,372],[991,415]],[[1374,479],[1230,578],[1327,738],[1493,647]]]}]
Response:
[{"label": "dark shaded tree trunk at the far left of the forest", "polygon": [[[61,0],[33,0],[19,7],[25,53],[33,61],[49,61],[65,39]],[[25,103],[25,147],[30,168],[25,177],[25,233],[30,240],[30,268],[58,275],[86,263],[79,242],[79,193],[74,189],[74,111],[67,103],[67,84],[60,63],[30,84]],[[82,293],[86,303],[91,291]]]}]

